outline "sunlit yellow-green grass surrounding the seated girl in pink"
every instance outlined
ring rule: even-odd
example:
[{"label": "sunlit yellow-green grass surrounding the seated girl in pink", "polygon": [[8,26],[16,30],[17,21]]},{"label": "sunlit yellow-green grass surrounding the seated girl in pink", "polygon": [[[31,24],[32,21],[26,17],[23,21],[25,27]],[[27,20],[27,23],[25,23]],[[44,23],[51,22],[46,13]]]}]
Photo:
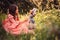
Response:
[{"label": "sunlit yellow-green grass surrounding the seated girl in pink", "polygon": [[[20,18],[24,20],[26,15],[21,15]],[[56,40],[58,39],[58,32],[60,29],[60,10],[49,10],[36,13],[35,34],[22,34],[13,36],[5,32],[2,27],[2,20],[6,18],[6,14],[0,14],[0,40]]]}]

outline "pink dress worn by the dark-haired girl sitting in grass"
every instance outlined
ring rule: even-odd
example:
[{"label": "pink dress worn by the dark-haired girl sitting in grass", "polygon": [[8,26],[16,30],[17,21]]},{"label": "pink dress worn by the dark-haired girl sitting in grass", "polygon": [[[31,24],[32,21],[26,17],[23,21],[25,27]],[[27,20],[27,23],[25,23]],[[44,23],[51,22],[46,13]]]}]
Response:
[{"label": "pink dress worn by the dark-haired girl sitting in grass", "polygon": [[7,33],[13,35],[19,35],[22,33],[28,33],[29,20],[20,22],[19,20],[14,20],[11,14],[8,14],[7,18],[2,22],[3,28]]}]

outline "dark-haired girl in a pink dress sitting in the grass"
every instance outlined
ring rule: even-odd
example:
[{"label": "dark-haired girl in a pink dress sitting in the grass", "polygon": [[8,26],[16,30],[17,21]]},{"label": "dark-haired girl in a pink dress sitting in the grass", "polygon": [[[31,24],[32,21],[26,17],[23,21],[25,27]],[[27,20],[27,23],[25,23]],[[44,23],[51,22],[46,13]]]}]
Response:
[{"label": "dark-haired girl in a pink dress sitting in the grass", "polygon": [[28,33],[29,20],[19,20],[18,7],[15,4],[10,5],[7,18],[2,22],[3,28],[7,33],[19,35],[21,33]]}]

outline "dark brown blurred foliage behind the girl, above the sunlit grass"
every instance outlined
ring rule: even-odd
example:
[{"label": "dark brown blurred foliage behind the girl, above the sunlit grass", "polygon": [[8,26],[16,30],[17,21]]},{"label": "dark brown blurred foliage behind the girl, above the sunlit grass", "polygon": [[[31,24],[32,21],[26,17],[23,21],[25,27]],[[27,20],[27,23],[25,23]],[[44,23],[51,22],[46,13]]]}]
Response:
[{"label": "dark brown blurred foliage behind the girl, above the sunlit grass", "polygon": [[6,13],[11,4],[18,5],[21,14],[27,13],[34,7],[40,11],[60,9],[60,0],[0,0],[0,11]]}]

